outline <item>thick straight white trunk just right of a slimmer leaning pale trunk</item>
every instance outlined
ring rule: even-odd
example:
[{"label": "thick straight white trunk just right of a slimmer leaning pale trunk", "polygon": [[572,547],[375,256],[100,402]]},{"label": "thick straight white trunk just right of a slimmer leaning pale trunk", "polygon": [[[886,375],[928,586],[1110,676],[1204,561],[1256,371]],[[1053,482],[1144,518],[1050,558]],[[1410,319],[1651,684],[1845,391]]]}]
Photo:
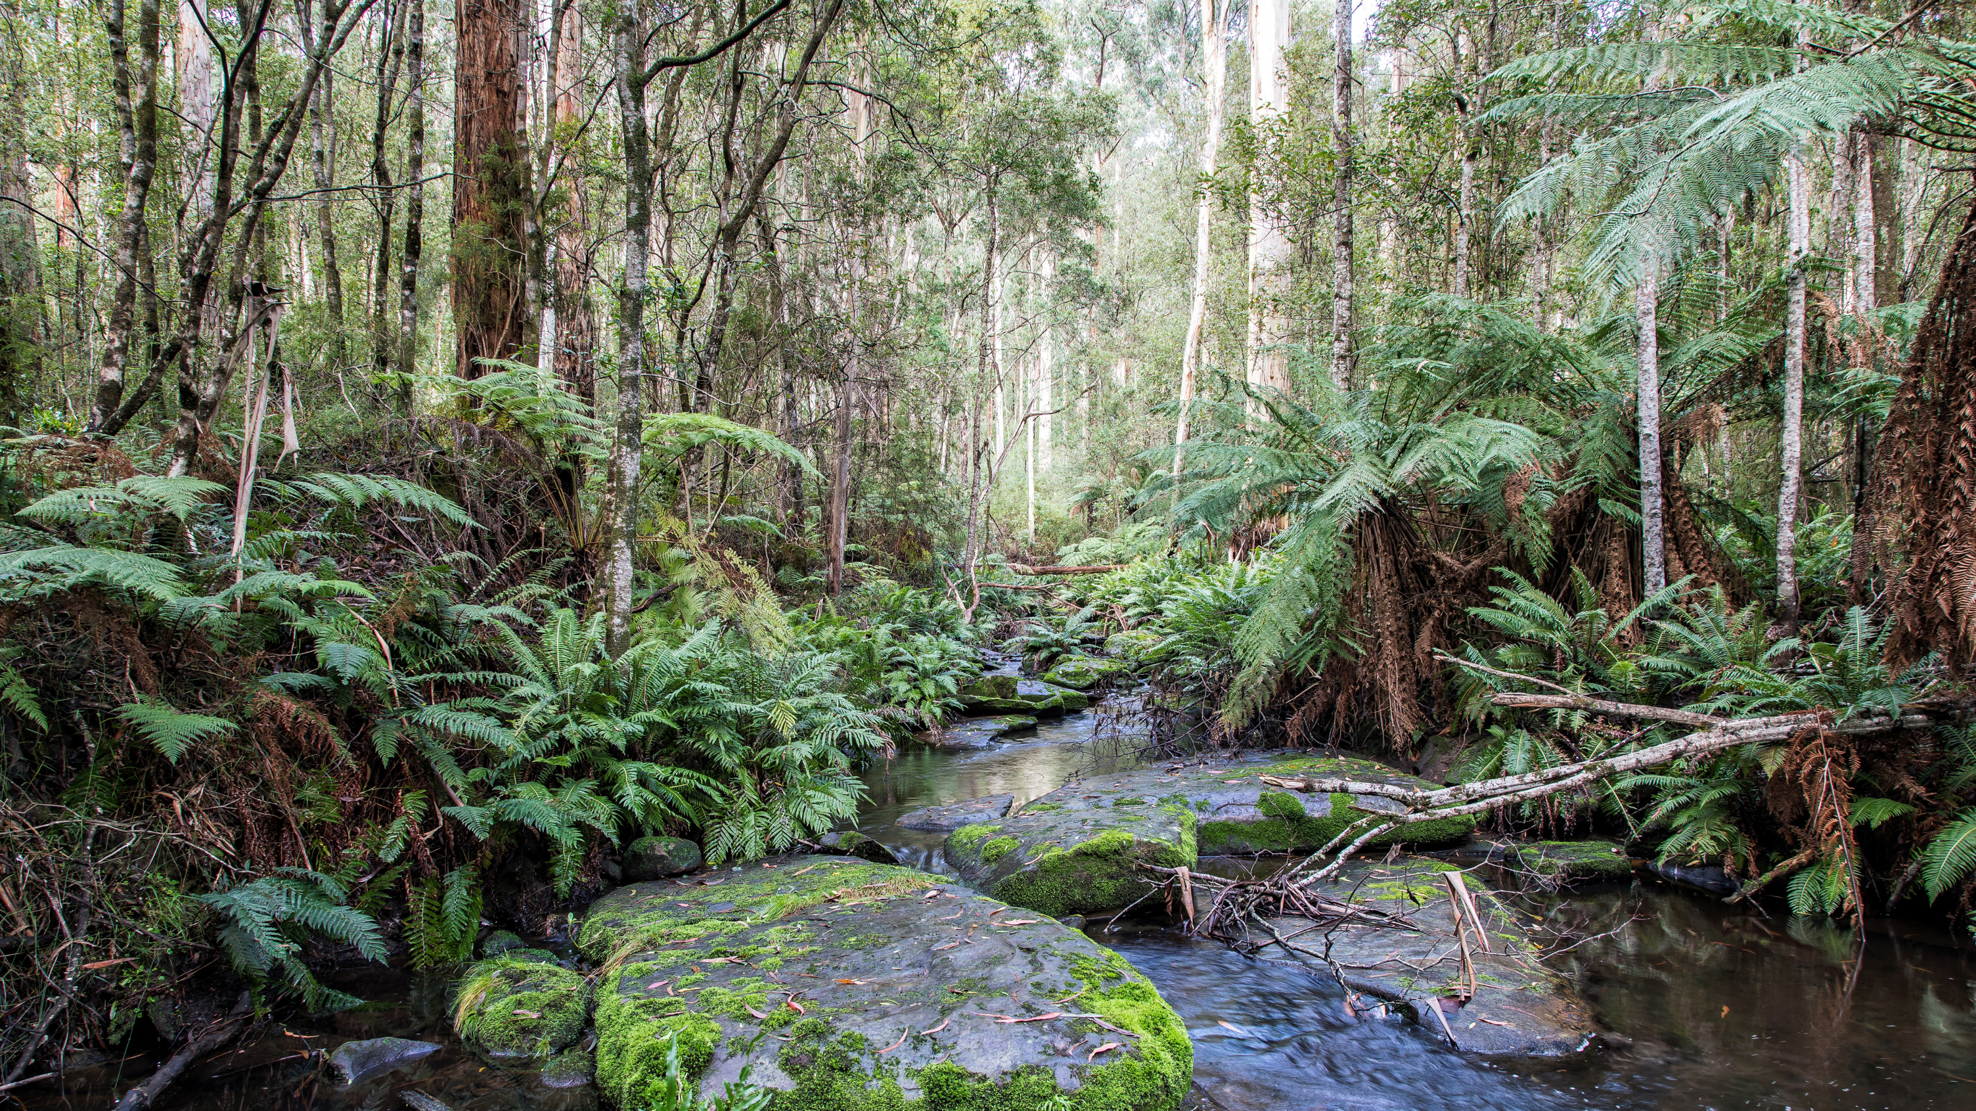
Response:
[{"label": "thick straight white trunk just right of a slimmer leaning pale trunk", "polygon": [[[1350,0],[1340,0],[1348,4]],[[1346,20],[1350,20],[1350,8]],[[1288,0],[1249,0],[1249,125],[1267,150],[1273,127],[1290,109],[1282,51],[1290,43]],[[1249,385],[1288,393],[1290,338],[1284,304],[1290,295],[1290,235],[1263,196],[1265,168],[1249,176]],[[1251,403],[1261,419],[1267,409]]]}]

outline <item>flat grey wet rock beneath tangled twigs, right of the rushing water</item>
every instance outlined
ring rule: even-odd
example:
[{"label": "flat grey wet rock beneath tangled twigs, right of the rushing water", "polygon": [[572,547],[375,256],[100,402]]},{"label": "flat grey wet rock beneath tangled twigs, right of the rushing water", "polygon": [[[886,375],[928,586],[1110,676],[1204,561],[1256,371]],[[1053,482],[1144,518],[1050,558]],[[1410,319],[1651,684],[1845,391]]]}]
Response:
[{"label": "flat grey wet rock beneath tangled twigs, right of the rushing water", "polygon": [[[1344,971],[1346,984],[1365,1000],[1385,1000],[1401,1008],[1423,1034],[1454,1044],[1468,1054],[1510,1058],[1555,1058],[1573,1054],[1597,1036],[1591,1010],[1571,986],[1537,961],[1537,947],[1512,909],[1492,892],[1468,884],[1468,897],[1484,919],[1482,951],[1468,933],[1474,979],[1462,971],[1456,941],[1456,911],[1444,872],[1452,864],[1401,858],[1391,864],[1352,862],[1338,878],[1318,884],[1334,899],[1403,915],[1413,929],[1342,925],[1324,931],[1324,943],[1306,945],[1290,935],[1310,921],[1282,917],[1267,923],[1282,937],[1271,945],[1282,957],[1312,967],[1320,979],[1334,979],[1330,959]],[[1265,929],[1265,933],[1267,933]],[[1468,994],[1472,988],[1472,994]],[[1435,1018],[1441,1008],[1446,1028]]]}]

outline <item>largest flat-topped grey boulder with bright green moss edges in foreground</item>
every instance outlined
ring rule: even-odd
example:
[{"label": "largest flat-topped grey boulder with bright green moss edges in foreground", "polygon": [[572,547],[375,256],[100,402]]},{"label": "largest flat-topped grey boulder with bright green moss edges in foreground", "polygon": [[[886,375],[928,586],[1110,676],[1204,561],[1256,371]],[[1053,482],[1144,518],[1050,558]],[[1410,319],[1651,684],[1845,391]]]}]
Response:
[{"label": "largest flat-topped grey boulder with bright green moss edges in foreground", "polygon": [[579,945],[620,957],[597,1004],[620,1107],[650,1101],[668,1040],[703,1093],[749,1068],[777,1107],[832,1111],[1172,1111],[1194,1073],[1186,1026],[1120,957],[925,872],[804,856],[620,888]]}]

